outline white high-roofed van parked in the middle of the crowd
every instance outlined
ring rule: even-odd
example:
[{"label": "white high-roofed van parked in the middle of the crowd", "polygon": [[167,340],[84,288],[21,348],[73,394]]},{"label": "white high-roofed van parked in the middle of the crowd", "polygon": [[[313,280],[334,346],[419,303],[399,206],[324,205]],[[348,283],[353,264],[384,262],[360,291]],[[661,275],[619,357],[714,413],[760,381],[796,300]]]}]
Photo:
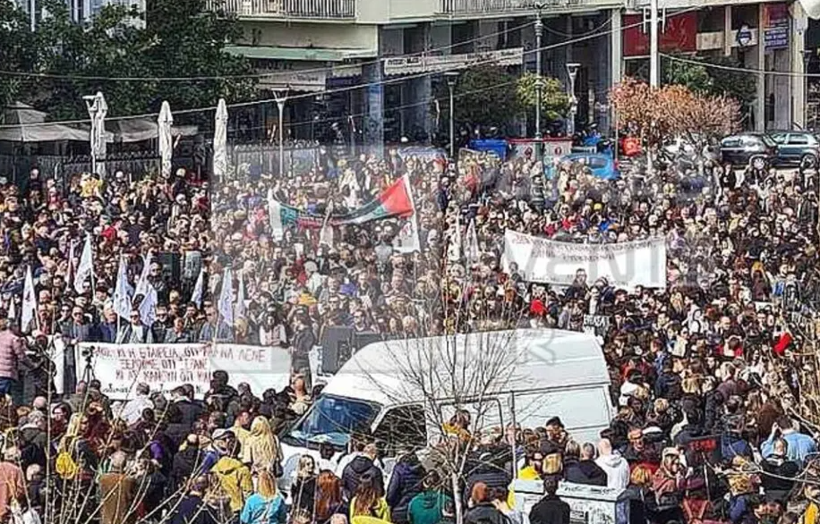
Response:
[{"label": "white high-roofed van parked in the middle of the crowd", "polygon": [[[520,329],[376,342],[357,351],[283,435],[285,483],[299,455],[346,450],[372,433],[391,457],[436,444],[456,408],[472,432],[542,427],[558,416],[577,441],[596,441],[612,417],[610,376],[594,334]],[[337,471],[341,474],[341,471]]]}]

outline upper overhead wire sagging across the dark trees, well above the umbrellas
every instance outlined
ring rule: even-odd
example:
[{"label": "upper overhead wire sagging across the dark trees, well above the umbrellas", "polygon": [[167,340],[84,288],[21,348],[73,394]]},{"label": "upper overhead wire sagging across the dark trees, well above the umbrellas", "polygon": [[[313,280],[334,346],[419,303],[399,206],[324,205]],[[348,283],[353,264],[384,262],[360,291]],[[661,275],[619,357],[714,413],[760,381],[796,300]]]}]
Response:
[{"label": "upper overhead wire sagging across the dark trees, well above the umbrellas", "polygon": [[[124,81],[124,82],[136,82],[136,81],[152,81],[152,82],[185,82],[185,81],[207,81],[207,80],[242,80],[242,79],[261,79],[261,78],[268,78],[268,77],[275,77],[275,76],[286,76],[293,72],[299,74],[310,74],[314,72],[329,72],[333,70],[344,70],[350,69],[354,67],[362,67],[364,65],[372,65],[375,63],[381,63],[385,60],[391,58],[412,58],[414,56],[423,56],[423,55],[431,55],[439,53],[440,51],[445,51],[448,49],[452,49],[453,47],[457,46],[464,46],[466,44],[473,44],[475,42],[479,42],[481,40],[485,40],[487,38],[494,38],[500,35],[507,34],[512,31],[516,30],[523,30],[528,26],[534,25],[534,21],[528,21],[517,25],[513,28],[507,28],[505,30],[496,31],[494,33],[489,33],[486,35],[482,35],[480,37],[471,38],[469,40],[465,40],[464,42],[458,42],[457,44],[448,44],[447,46],[440,46],[440,47],[432,47],[431,49],[426,49],[424,51],[418,51],[415,53],[406,53],[402,55],[391,55],[391,56],[384,56],[381,58],[375,58],[373,60],[360,62],[360,63],[341,63],[338,65],[325,65],[322,67],[315,67],[312,69],[297,69],[293,71],[272,71],[272,72],[257,72],[252,74],[234,74],[234,75],[221,75],[221,76],[192,76],[192,77],[108,77],[108,76],[84,76],[84,75],[72,75],[72,74],[57,74],[57,73],[49,73],[49,72],[20,72],[20,71],[2,71],[0,70],[0,76],[11,76],[11,77],[21,77],[21,78],[42,78],[42,79],[52,79],[52,80],[90,80],[90,81]],[[601,27],[604,27],[603,24]]]}]

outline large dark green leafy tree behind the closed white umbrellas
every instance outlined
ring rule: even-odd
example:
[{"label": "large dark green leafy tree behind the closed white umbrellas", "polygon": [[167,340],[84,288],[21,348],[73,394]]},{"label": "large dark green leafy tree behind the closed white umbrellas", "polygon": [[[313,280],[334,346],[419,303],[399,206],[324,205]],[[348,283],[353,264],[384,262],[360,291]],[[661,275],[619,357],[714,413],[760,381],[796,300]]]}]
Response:
[{"label": "large dark green leafy tree behind the closed white umbrellas", "polygon": [[[225,51],[226,43],[241,34],[238,23],[207,11],[205,0],[149,0],[146,13],[109,5],[85,24],[71,20],[62,0],[46,0],[44,8],[47,16],[34,38],[37,70],[74,77],[43,80],[29,93],[29,101],[52,119],[86,118],[81,97],[98,90],[106,95],[112,116],[158,111],[163,100],[179,110],[214,106],[219,97],[235,102],[255,96],[256,80],[237,78],[252,74],[252,64]],[[141,18],[144,24],[134,23]],[[218,76],[225,78],[105,80]],[[179,120],[186,116],[210,120],[205,114]]]}]

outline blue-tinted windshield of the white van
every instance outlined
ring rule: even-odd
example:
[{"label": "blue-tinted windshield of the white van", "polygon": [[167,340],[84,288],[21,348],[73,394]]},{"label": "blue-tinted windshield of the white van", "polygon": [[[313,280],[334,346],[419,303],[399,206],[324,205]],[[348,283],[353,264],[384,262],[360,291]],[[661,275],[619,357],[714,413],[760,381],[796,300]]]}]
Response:
[{"label": "blue-tinted windshield of the white van", "polygon": [[282,441],[294,446],[329,443],[344,447],[352,433],[370,429],[380,409],[375,403],[323,394]]}]

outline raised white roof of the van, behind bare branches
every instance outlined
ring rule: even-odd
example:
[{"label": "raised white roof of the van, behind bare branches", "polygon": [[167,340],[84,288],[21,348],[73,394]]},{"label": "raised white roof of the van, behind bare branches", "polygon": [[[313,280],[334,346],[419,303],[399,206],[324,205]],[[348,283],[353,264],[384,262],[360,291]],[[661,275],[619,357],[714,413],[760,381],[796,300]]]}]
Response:
[{"label": "raised white roof of the van, behind bare branches", "polygon": [[593,334],[518,329],[374,342],[323,393],[395,405],[609,383]]}]

